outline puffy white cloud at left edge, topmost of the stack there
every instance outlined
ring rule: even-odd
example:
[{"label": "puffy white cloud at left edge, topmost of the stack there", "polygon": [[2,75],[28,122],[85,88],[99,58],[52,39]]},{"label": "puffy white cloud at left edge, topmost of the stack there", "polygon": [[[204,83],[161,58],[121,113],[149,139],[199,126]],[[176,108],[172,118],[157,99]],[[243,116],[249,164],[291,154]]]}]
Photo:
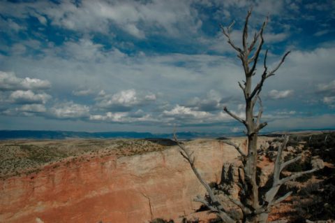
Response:
[{"label": "puffy white cloud at left edge, topmost of the stack there", "polygon": [[50,82],[37,78],[17,78],[13,72],[0,71],[0,90],[49,89]]}]

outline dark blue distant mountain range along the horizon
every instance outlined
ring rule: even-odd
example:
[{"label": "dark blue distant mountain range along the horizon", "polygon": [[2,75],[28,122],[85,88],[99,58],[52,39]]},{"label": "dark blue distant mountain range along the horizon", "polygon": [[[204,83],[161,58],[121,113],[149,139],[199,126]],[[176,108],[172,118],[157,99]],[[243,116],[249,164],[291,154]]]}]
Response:
[{"label": "dark blue distant mountain range along the horizon", "polygon": [[[334,129],[297,129],[289,133],[308,133],[334,131]],[[282,135],[288,131],[276,131],[262,133],[262,135]],[[191,138],[224,138],[230,136],[244,136],[243,133],[201,133],[182,131],[177,133],[179,139]],[[0,140],[4,139],[67,139],[67,138],[173,138],[173,133],[169,134],[151,134],[149,132],[136,131],[103,131],[103,132],[86,132],[86,131],[35,131],[35,130],[0,130]]]}]

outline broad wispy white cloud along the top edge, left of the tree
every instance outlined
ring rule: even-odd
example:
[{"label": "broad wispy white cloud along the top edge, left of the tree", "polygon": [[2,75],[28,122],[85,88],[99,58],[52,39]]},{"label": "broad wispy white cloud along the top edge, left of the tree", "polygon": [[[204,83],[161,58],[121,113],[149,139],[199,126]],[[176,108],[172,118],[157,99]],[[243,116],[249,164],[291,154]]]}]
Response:
[{"label": "broad wispy white cloud along the top edge, left of the tree", "polygon": [[82,1],[79,6],[64,1],[57,5],[50,3],[40,10],[52,24],[85,33],[107,34],[117,25],[136,38],[145,38],[149,29],[164,29],[170,35],[179,35],[179,26],[187,29],[186,32],[201,26],[189,1]]}]

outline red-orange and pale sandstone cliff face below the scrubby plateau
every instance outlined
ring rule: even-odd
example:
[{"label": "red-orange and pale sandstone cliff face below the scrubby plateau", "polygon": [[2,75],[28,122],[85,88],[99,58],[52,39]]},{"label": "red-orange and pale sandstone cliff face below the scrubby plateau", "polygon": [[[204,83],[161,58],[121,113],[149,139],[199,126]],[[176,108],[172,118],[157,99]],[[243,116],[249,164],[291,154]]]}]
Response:
[{"label": "red-orange and pale sandstone cliff face below the scrubby plateau", "polygon": [[[242,142],[242,141],[241,141]],[[208,182],[220,182],[234,148],[218,141],[188,143]],[[0,181],[0,222],[149,222],[177,220],[200,207],[202,185],[177,147],[129,157],[85,157]]]}]

